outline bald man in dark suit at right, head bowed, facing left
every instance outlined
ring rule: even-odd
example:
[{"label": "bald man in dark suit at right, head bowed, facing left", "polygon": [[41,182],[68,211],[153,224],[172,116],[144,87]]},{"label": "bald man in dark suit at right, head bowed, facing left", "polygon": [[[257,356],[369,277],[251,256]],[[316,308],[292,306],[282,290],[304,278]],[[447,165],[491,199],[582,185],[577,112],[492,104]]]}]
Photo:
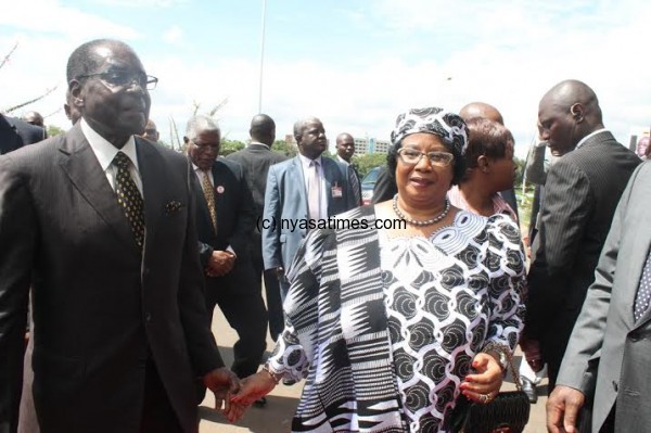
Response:
[{"label": "bald man in dark suit at right, head bowed, facing left", "polygon": [[562,81],[542,97],[538,130],[561,157],[547,173],[521,345],[527,359],[539,348],[532,367],[547,362],[551,390],[615,206],[640,160],[604,129],[597,95],[580,81]]}]

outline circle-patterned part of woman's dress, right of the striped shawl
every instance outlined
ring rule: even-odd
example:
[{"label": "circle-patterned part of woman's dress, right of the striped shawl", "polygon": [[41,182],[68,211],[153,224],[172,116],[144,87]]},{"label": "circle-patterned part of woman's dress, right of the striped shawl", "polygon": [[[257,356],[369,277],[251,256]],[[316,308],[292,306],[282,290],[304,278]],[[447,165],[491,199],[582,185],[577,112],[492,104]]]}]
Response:
[{"label": "circle-patterned part of woman's dress, right of the striped shawl", "polygon": [[459,212],[429,239],[380,235],[391,352],[410,432],[445,431],[445,415],[487,333],[511,347],[518,340],[521,306],[505,289],[520,260],[510,257],[519,232],[505,242],[503,220]]}]

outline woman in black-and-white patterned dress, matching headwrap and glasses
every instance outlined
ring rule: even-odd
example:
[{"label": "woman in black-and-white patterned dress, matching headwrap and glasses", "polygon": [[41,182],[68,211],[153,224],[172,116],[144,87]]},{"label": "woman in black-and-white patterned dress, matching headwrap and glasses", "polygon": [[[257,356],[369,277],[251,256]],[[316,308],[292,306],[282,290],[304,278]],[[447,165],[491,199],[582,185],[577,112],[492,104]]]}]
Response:
[{"label": "woman in black-and-white patterned dress, matching headwrap and glasses", "polygon": [[398,193],[307,235],[282,338],[231,410],[305,379],[293,432],[447,432],[461,395],[499,392],[523,327],[520,231],[450,206],[464,173],[459,116],[410,110],[392,141]]}]

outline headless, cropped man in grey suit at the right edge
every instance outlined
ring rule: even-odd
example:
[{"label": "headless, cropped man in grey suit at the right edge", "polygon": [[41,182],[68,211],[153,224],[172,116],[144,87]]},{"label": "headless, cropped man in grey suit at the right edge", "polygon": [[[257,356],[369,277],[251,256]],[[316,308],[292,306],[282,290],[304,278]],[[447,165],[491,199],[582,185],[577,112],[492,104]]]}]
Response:
[{"label": "headless, cropped man in grey suit at the right edge", "polygon": [[[551,432],[569,431],[591,407],[584,432],[646,433],[651,425],[651,163],[628,182],[547,402]],[[589,411],[584,422],[590,421]]]}]

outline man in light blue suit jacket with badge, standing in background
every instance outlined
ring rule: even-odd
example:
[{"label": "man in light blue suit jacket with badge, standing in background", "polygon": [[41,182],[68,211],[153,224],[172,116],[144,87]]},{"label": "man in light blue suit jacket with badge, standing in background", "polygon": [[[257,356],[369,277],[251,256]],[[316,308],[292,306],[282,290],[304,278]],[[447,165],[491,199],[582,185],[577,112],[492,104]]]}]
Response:
[{"label": "man in light blue suit jacket with badge, standing in background", "polygon": [[359,205],[350,180],[354,175],[346,177],[340,163],[321,156],[328,148],[321,120],[296,122],[294,138],[298,155],[269,168],[261,221],[265,269],[278,276],[283,300],[290,289],[285,269],[307,234],[308,221],[323,222]]}]

